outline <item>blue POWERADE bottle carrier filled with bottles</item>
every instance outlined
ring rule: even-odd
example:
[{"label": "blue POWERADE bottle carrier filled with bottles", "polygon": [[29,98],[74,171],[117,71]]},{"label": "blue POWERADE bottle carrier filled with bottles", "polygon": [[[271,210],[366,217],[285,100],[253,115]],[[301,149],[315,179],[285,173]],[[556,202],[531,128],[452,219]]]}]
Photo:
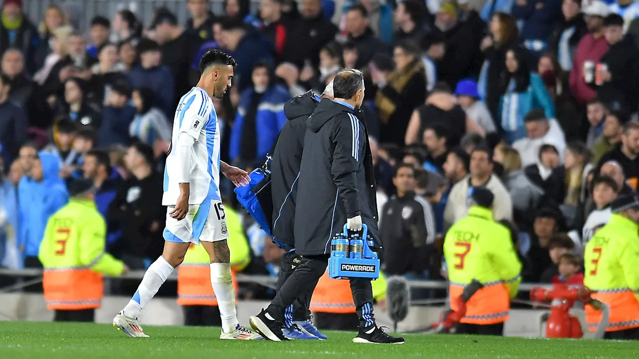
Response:
[{"label": "blue POWERADE bottle carrier filled with bottles", "polygon": [[368,235],[368,227],[362,224],[362,231],[349,236],[344,225],[344,232],[337,233],[330,241],[330,259],[328,259],[328,276],[332,279],[378,279],[380,277],[380,259],[371,250],[373,240]]}]

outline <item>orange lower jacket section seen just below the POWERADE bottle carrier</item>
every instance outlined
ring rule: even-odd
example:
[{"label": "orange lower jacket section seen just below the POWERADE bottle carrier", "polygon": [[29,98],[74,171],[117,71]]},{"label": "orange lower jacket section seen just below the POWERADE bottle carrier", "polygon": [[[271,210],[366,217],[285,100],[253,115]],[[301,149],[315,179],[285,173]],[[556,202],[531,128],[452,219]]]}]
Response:
[{"label": "orange lower jacket section seen just below the POWERADE bottle carrier", "polygon": [[355,313],[350,282],[343,279],[332,279],[328,277],[328,272],[325,272],[315,287],[310,309],[312,312],[319,313]]}]

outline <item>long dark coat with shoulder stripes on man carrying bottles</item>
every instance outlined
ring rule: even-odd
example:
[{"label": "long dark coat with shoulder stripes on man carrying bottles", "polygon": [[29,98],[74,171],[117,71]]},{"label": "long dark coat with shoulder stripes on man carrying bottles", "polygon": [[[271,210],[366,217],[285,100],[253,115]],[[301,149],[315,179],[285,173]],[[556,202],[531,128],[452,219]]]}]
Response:
[{"label": "long dark coat with shoulder stripes on man carrying bottles", "polygon": [[295,206],[300,255],[330,253],[332,236],[358,215],[380,243],[373,156],[363,117],[360,109],[325,98],[307,119]]}]

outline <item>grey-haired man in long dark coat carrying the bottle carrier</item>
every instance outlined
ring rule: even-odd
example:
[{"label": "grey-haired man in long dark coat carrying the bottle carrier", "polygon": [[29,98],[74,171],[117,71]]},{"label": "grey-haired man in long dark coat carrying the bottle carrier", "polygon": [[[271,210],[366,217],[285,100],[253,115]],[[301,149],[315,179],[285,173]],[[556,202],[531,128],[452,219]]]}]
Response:
[{"label": "grey-haired man in long dark coat carrying the bottle carrier", "polygon": [[[284,310],[326,271],[330,240],[344,222],[350,231],[368,224],[379,243],[373,157],[365,122],[359,118],[364,76],[357,70],[343,70],[335,76],[333,91],[335,100],[323,99],[307,120],[295,206],[295,251],[301,263],[268,308],[250,317],[250,325],[265,339],[286,340]],[[376,325],[370,280],[353,279],[350,284],[360,319],[353,342],[404,342]]]}]

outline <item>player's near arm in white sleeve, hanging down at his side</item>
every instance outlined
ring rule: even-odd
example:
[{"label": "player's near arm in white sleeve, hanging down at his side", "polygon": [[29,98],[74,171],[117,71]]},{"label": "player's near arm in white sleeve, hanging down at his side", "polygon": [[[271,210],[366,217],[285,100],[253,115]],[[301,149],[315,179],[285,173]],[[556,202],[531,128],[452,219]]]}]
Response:
[{"label": "player's near arm in white sleeve, hanging down at his side", "polygon": [[180,111],[185,111],[180,132],[178,133],[178,143],[175,146],[176,164],[175,176],[180,186],[180,197],[175,204],[175,208],[169,215],[181,220],[189,213],[190,196],[190,169],[193,161],[193,145],[199,138],[199,134],[206,123],[204,114],[208,111],[204,94],[197,91],[186,100],[185,107]]}]

